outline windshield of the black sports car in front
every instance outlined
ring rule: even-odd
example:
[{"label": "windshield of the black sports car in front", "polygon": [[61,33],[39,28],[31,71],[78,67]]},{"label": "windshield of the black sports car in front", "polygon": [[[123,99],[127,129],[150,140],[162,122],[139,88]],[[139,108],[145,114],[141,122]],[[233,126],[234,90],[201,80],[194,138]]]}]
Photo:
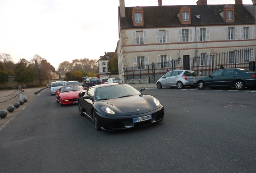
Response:
[{"label": "windshield of the black sports car in front", "polygon": [[96,90],[96,100],[116,99],[139,94],[140,92],[138,90],[127,84],[111,85],[98,88]]}]

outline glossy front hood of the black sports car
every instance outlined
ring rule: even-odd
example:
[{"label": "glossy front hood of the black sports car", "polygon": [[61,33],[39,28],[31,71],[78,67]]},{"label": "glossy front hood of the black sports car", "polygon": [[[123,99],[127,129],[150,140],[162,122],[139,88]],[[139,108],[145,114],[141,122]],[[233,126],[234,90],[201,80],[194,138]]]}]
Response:
[{"label": "glossy front hood of the black sports car", "polygon": [[139,111],[145,111],[150,108],[149,103],[140,95],[110,99],[105,100],[105,102],[117,107],[125,113],[138,113]]}]

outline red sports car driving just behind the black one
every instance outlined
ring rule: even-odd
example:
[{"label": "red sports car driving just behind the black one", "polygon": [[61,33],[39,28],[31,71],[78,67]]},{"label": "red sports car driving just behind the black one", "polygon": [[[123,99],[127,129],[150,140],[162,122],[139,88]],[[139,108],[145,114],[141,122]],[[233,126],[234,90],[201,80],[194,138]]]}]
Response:
[{"label": "red sports car driving just behind the black one", "polygon": [[61,87],[55,92],[56,101],[60,103],[60,106],[78,103],[78,94],[85,89],[86,87],[83,89],[79,85]]}]

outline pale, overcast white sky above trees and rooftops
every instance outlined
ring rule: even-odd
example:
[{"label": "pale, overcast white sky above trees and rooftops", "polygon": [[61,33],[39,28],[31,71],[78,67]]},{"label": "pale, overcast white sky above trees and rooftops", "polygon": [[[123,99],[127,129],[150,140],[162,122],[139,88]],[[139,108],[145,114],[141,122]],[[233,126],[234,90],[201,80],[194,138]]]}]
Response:
[{"label": "pale, overcast white sky above trees and rooftops", "polygon": [[[197,0],[162,0],[162,5],[196,5]],[[235,4],[207,0],[207,4]],[[252,4],[243,0],[243,4]],[[0,0],[0,53],[14,63],[39,54],[58,69],[73,59],[99,59],[114,52],[119,0]],[[125,6],[158,6],[157,0],[125,0]]]}]

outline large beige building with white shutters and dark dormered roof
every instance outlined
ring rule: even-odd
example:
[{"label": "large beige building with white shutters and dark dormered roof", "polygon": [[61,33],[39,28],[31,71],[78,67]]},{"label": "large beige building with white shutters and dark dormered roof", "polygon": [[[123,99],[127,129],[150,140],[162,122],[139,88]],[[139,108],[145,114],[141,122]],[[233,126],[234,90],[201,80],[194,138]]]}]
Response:
[{"label": "large beige building with white shutters and dark dormered roof", "polygon": [[[163,0],[164,2],[164,0]],[[223,1],[225,2],[225,0]],[[198,0],[196,5],[125,7],[120,0],[117,44],[119,77],[126,69],[146,69],[149,64],[198,57],[196,66],[210,65],[210,56],[227,52],[223,63],[231,63],[235,50],[243,50],[239,63],[255,54],[254,6],[235,0],[235,4],[211,5]],[[182,64],[190,69],[195,64]],[[168,67],[168,65],[167,65]]]}]

